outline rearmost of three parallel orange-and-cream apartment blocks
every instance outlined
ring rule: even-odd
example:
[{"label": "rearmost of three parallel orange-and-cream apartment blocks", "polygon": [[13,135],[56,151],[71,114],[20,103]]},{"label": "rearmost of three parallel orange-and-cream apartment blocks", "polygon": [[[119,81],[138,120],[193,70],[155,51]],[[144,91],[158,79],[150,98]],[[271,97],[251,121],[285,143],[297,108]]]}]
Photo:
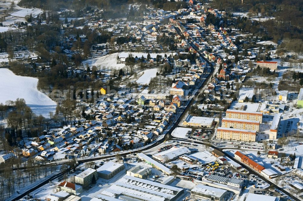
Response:
[{"label": "rearmost of three parallel orange-and-cream apartment blocks", "polygon": [[226,118],[243,119],[262,122],[263,113],[244,110],[226,110]]}]

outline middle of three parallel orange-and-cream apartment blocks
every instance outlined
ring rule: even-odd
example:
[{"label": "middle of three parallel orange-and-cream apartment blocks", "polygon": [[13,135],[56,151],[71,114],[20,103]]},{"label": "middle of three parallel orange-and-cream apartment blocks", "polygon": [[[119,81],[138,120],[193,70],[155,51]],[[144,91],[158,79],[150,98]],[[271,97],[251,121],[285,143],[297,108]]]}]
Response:
[{"label": "middle of three parallel orange-and-cream apartment blocks", "polygon": [[260,121],[222,118],[221,127],[255,130],[259,132]]}]

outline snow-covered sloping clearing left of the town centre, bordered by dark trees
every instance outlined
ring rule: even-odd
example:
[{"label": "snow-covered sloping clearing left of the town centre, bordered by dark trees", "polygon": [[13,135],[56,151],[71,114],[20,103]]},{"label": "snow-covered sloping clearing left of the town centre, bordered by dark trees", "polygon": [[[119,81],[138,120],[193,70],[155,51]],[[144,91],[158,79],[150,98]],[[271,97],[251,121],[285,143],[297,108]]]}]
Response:
[{"label": "snow-covered sloping clearing left of the town centre, bordered by dark trees", "polygon": [[82,63],[89,66],[95,65],[98,69],[104,71],[111,71],[112,69],[121,69],[125,67],[124,63],[117,64],[117,56],[119,53],[109,54],[106,56],[96,57],[93,59],[87,59]]}]

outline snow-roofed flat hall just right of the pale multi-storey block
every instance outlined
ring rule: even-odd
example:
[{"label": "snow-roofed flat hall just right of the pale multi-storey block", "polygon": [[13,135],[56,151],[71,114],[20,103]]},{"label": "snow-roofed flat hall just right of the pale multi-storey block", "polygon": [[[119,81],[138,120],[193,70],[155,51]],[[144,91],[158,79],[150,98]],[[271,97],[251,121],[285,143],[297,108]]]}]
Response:
[{"label": "snow-roofed flat hall just right of the pale multi-storey block", "polygon": [[99,167],[97,169],[97,173],[98,177],[101,177],[103,179],[110,179],[124,169],[125,168],[123,163],[114,163],[112,161],[109,161]]}]

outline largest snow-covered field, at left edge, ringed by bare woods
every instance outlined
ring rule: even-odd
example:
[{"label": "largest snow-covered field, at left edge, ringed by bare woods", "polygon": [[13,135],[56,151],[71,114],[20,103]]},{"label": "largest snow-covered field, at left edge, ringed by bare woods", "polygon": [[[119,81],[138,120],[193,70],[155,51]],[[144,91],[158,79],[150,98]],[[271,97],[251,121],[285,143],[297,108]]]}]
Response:
[{"label": "largest snow-covered field, at left edge, ringed by bare woods", "polygon": [[55,111],[56,103],[38,91],[37,84],[37,78],[18,76],[8,69],[0,69],[0,103],[24,98],[35,114],[49,116],[50,111]]}]

